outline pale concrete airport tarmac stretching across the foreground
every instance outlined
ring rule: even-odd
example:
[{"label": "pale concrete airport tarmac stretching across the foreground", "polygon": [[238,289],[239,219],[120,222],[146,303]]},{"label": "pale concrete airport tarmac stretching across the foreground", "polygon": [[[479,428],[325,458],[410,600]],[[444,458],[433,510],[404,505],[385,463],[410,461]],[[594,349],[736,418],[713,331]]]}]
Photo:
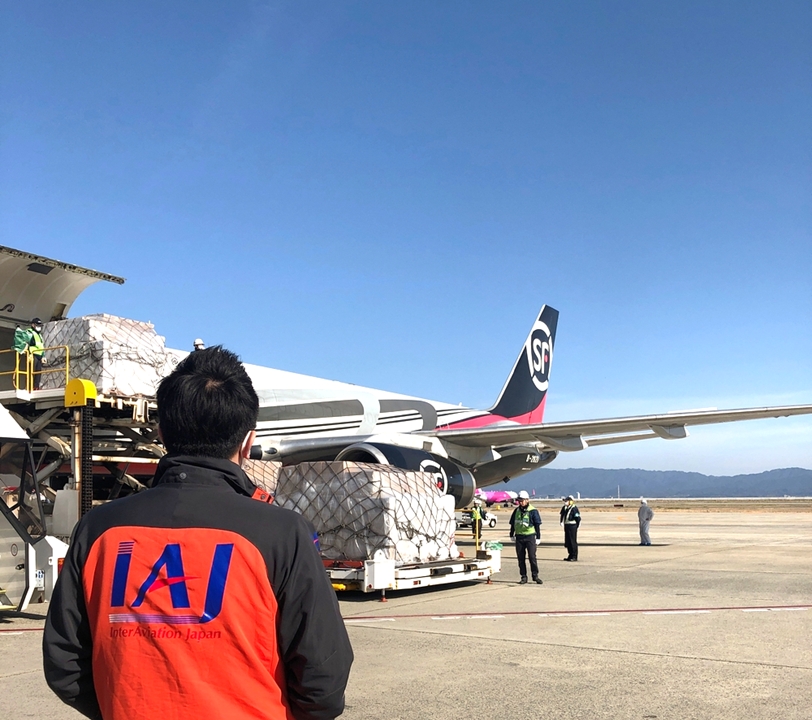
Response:
[{"label": "pale concrete airport tarmac stretching across the foreground", "polygon": [[[577,563],[542,511],[541,586],[518,584],[502,512],[490,584],[341,594],[342,717],[812,718],[812,512],[663,511],[640,547],[635,508],[581,507]],[[458,544],[473,553],[469,531]],[[4,720],[79,717],[42,677],[46,608],[0,618]]]}]

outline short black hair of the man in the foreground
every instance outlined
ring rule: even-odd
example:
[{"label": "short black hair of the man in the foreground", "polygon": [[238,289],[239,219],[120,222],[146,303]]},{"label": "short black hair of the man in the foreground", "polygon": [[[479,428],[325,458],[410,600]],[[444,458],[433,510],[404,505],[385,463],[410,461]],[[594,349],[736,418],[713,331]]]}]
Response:
[{"label": "short black hair of the man in the foreground", "polygon": [[161,381],[157,399],[164,445],[179,455],[234,457],[259,414],[251,378],[220,345],[187,355]]}]

